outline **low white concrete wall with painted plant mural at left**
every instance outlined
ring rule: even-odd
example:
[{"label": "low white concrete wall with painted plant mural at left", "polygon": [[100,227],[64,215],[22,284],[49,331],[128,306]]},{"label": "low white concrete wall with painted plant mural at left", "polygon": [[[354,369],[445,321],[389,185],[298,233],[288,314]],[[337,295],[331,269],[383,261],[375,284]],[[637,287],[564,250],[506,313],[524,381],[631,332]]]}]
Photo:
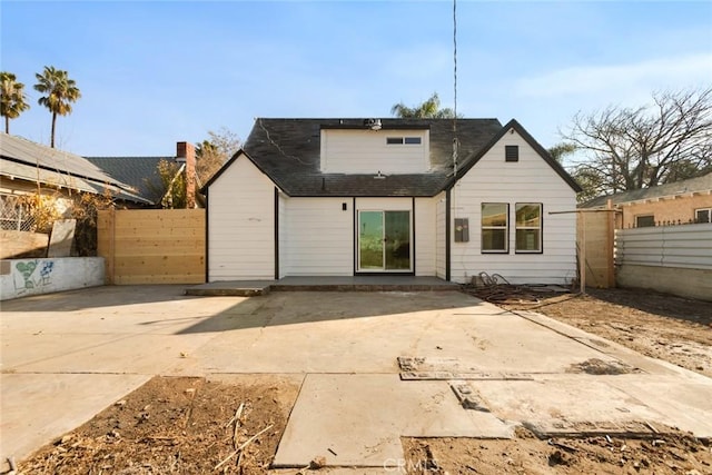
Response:
[{"label": "low white concrete wall with painted plant mural at left", "polygon": [[55,257],[2,261],[0,300],[103,285],[102,257]]}]

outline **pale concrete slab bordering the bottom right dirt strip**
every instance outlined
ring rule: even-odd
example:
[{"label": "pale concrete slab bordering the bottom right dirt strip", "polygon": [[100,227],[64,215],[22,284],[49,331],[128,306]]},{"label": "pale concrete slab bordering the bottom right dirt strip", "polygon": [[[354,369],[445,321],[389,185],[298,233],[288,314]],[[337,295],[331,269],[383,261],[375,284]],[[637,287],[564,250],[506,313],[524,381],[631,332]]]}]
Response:
[{"label": "pale concrete slab bordering the bottom right dirt strip", "polygon": [[[483,404],[496,416],[518,420],[547,436],[570,434],[653,434],[647,425],[668,424],[711,434],[709,403],[696,400],[712,394],[712,382],[689,382],[674,390],[681,400],[664,403],[657,390],[674,385],[666,376],[553,375],[526,382],[468,382]],[[680,378],[678,384],[682,383]],[[650,386],[649,386],[650,385]],[[585,402],[585,404],[582,404]],[[695,407],[695,412],[690,409]]]}]

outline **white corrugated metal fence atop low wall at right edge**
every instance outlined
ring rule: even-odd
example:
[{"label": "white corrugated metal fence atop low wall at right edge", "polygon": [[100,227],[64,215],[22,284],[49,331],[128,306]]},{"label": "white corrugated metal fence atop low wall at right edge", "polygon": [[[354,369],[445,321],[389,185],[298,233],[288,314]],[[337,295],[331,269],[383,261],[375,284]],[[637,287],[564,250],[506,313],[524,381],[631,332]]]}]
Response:
[{"label": "white corrugated metal fence atop low wall at right edge", "polygon": [[616,280],[712,300],[712,224],[615,231]]}]

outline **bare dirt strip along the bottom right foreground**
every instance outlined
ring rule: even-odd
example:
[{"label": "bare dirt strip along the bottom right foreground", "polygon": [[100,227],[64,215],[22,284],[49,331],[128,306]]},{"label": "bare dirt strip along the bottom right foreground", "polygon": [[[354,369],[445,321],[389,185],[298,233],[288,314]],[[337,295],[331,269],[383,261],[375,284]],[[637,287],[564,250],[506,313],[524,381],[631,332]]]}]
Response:
[{"label": "bare dirt strip along the bottom right foreground", "polygon": [[517,428],[511,441],[404,439],[409,474],[686,474],[712,473],[712,453],[689,435],[650,441],[617,437],[540,441]]}]

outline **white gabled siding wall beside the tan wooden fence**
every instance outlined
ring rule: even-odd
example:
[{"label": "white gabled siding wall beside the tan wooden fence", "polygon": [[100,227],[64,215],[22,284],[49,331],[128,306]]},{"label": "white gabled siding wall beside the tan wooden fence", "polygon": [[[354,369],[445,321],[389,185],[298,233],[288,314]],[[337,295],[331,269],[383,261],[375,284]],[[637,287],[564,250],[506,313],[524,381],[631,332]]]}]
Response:
[{"label": "white gabled siding wall beside the tan wooden fence", "polygon": [[275,278],[274,190],[244,156],[210,186],[209,281]]}]

